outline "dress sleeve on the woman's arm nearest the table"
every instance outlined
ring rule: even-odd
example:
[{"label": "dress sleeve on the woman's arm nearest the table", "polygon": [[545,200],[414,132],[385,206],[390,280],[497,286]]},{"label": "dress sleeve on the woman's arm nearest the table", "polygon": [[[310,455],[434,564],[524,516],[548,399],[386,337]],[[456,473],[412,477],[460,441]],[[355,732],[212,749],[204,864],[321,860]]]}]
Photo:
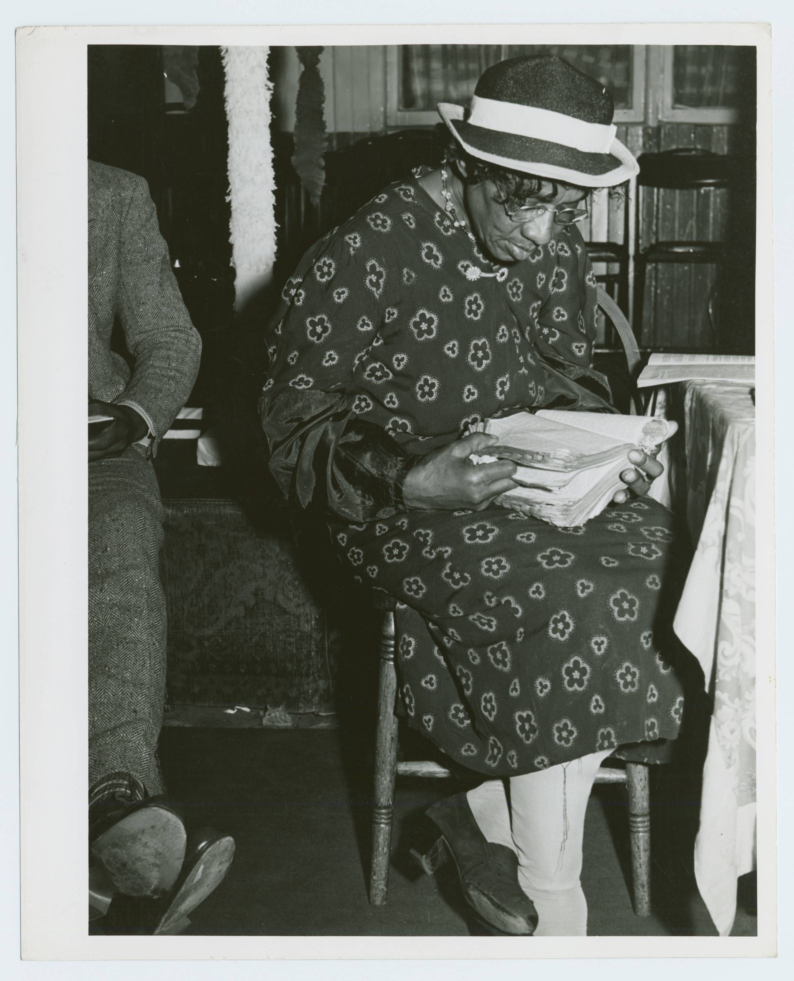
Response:
[{"label": "dress sleeve on the woman's arm nearest the table", "polygon": [[572,226],[551,248],[555,265],[536,335],[546,374],[544,407],[615,412],[609,381],[593,369],[597,284],[584,240]]}]

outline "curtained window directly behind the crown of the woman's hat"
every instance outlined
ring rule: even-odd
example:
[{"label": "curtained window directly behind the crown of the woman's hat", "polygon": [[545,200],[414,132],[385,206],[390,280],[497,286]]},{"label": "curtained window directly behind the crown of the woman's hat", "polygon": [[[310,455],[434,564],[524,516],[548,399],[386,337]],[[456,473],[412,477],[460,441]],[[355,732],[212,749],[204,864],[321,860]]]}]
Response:
[{"label": "curtained window directly behind the crown of the woman's hat", "polygon": [[645,48],[628,44],[403,44],[388,49],[389,126],[430,126],[438,102],[464,105],[491,65],[518,55],[556,54],[607,85],[615,123],[641,122]]}]

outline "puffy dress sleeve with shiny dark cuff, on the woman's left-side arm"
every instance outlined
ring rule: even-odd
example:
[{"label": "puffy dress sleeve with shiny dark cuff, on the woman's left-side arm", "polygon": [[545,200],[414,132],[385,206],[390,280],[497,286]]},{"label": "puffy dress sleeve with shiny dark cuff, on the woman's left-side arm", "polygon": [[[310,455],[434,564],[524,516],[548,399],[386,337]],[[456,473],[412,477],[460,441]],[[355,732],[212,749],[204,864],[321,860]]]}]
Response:
[{"label": "puffy dress sleeve with shiny dark cuff, on the woman's left-side arm", "polygon": [[384,309],[386,262],[368,255],[358,232],[334,232],[303,257],[269,329],[259,401],[285,496],[346,521],[402,510],[402,482],[418,459],[356,415],[368,396],[356,393],[355,370],[378,343]]}]

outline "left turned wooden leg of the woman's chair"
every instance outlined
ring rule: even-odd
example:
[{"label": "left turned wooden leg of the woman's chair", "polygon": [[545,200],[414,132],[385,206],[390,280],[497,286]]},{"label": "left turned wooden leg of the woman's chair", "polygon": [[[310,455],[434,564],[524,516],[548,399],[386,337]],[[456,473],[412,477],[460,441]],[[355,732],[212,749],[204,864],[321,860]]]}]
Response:
[{"label": "left turned wooden leg of the woman's chair", "polygon": [[384,613],[381,632],[381,669],[378,684],[378,728],[375,737],[375,809],[372,814],[372,866],[369,902],[386,903],[389,856],[395,812],[397,777],[397,673],[395,671],[395,614]]}]

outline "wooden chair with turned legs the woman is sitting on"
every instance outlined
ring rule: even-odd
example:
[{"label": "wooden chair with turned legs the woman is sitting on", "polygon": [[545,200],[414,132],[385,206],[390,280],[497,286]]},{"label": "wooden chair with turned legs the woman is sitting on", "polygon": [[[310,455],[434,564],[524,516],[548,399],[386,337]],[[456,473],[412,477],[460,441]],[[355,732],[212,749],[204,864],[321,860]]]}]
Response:
[{"label": "wooden chair with turned legs the woman is sitting on", "polygon": [[[634,375],[640,361],[637,341],[620,308],[603,286],[598,303],[623,342],[629,372]],[[633,405],[632,405],[633,409]],[[397,671],[395,669],[395,610],[397,602],[382,590],[373,591],[373,606],[383,613],[378,682],[378,720],[375,734],[375,804],[372,813],[372,863],[369,902],[386,903],[392,824],[397,776],[452,777],[455,774],[432,760],[397,762]],[[609,757],[611,759],[612,757]],[[651,915],[651,798],[649,764],[626,761],[625,769],[603,766],[597,784],[625,784],[628,795],[628,824],[631,840],[632,900],[638,916]]]}]

